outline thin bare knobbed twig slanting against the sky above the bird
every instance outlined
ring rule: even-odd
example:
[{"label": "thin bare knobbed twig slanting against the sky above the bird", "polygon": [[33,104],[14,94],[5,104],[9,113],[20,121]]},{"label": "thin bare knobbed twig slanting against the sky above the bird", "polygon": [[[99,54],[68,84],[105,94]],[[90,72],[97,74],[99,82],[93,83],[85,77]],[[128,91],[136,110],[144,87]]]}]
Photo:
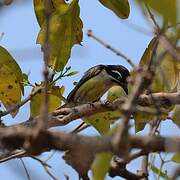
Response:
[{"label": "thin bare knobbed twig slanting against the sky above the bird", "polygon": [[88,30],[87,35],[89,37],[92,37],[93,39],[95,39],[96,41],[98,41],[100,44],[102,44],[103,46],[105,46],[106,48],[110,49],[111,51],[113,51],[114,53],[116,53],[117,56],[121,56],[122,58],[124,58],[133,68],[135,67],[135,64],[132,62],[132,60],[130,58],[128,58],[124,53],[122,53],[121,51],[115,49],[114,47],[112,47],[111,45],[109,45],[108,43],[104,42],[103,40],[101,40],[99,37],[95,36],[92,32],[92,30]]}]

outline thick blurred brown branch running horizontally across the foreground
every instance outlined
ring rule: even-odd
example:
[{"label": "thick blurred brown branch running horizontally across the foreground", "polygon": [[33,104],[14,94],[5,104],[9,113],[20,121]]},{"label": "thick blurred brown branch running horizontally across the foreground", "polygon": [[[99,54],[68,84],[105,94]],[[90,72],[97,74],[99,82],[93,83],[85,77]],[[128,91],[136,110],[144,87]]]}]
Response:
[{"label": "thick blurred brown branch running horizontally across the foreground", "polygon": [[[39,155],[49,150],[73,150],[100,153],[116,153],[124,146],[121,141],[118,147],[114,147],[113,136],[89,137],[62,132],[41,131],[34,133],[34,129],[25,127],[0,128],[0,148],[14,150],[23,148],[31,155]],[[180,137],[160,136],[131,136],[129,135],[130,148],[144,149],[147,152],[180,152]]]}]

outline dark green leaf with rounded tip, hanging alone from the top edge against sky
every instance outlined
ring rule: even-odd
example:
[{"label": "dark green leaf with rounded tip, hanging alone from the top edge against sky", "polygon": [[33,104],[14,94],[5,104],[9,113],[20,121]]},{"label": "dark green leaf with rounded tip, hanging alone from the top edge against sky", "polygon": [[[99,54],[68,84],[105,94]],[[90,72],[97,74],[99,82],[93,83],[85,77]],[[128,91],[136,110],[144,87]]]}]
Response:
[{"label": "dark green leaf with rounded tip, hanging alone from the top edge against sky", "polygon": [[122,19],[129,17],[130,7],[128,0],[99,0],[99,2],[112,10],[118,17]]}]

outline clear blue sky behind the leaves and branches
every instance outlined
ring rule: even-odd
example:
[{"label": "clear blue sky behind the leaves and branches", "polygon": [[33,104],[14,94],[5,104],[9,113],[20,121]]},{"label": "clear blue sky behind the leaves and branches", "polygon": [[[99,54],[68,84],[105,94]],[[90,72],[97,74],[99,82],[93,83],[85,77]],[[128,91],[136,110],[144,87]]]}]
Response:
[{"label": "clear blue sky behind the leaves and branches", "polygon": [[[36,37],[39,31],[32,1],[17,0],[18,3],[4,7],[0,12],[0,33],[4,33],[0,44],[6,47],[13,57],[17,60],[21,69],[25,73],[30,73],[32,82],[40,82],[42,80],[42,54],[40,46],[36,44]],[[96,64],[122,64],[130,69],[129,64],[124,59],[116,56],[113,52],[102,47],[96,41],[86,36],[87,30],[92,29],[93,32],[110,43],[115,48],[121,50],[134,63],[138,63],[144,49],[147,47],[152,35],[145,35],[142,32],[133,30],[128,23],[138,24],[147,31],[151,31],[149,23],[143,18],[143,14],[130,0],[131,13],[128,20],[121,20],[110,10],[103,7],[97,0],[80,0],[81,18],[84,24],[83,46],[76,45],[72,49],[71,59],[68,65],[73,70],[80,71],[79,74],[63,79],[59,85],[66,86],[65,95],[73,88],[73,81],[77,81],[89,67]],[[29,89],[26,90],[26,95]],[[15,119],[5,118],[5,123],[12,124],[24,121],[29,117],[29,105],[22,108],[22,111]],[[70,130],[75,123],[71,123],[65,128],[59,130]],[[177,134],[178,128],[170,121],[166,121],[162,125],[162,133],[166,135]],[[96,131],[93,128],[86,130],[85,133],[94,135]],[[47,157],[49,153],[44,153],[41,157]],[[50,179],[45,173],[41,165],[30,158],[24,158],[33,180],[46,178]],[[70,179],[77,179],[77,174],[71,167],[65,165],[61,160],[61,153],[56,155],[49,161],[53,166],[53,171],[59,179],[65,179],[64,174],[68,174]],[[137,162],[134,162],[130,168],[137,169]],[[173,165],[172,165],[173,166]],[[26,175],[19,160],[11,160],[0,164],[0,174],[6,180],[24,180]]]}]

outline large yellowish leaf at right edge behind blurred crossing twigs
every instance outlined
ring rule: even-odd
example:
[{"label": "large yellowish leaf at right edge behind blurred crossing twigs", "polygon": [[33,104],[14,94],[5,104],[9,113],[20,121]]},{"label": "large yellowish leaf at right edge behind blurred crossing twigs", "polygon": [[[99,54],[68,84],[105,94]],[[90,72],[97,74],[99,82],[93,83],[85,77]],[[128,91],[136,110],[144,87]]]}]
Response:
[{"label": "large yellowish leaf at right edge behind blurred crossing twigs", "polygon": [[[140,65],[148,65],[152,57],[152,49],[157,38],[154,37],[141,58]],[[158,45],[157,57],[162,52],[162,46]],[[180,80],[180,63],[172,58],[170,54],[166,54],[161,60],[160,65],[156,68],[153,82],[151,84],[152,92],[172,92],[176,91],[178,81]]]}]

